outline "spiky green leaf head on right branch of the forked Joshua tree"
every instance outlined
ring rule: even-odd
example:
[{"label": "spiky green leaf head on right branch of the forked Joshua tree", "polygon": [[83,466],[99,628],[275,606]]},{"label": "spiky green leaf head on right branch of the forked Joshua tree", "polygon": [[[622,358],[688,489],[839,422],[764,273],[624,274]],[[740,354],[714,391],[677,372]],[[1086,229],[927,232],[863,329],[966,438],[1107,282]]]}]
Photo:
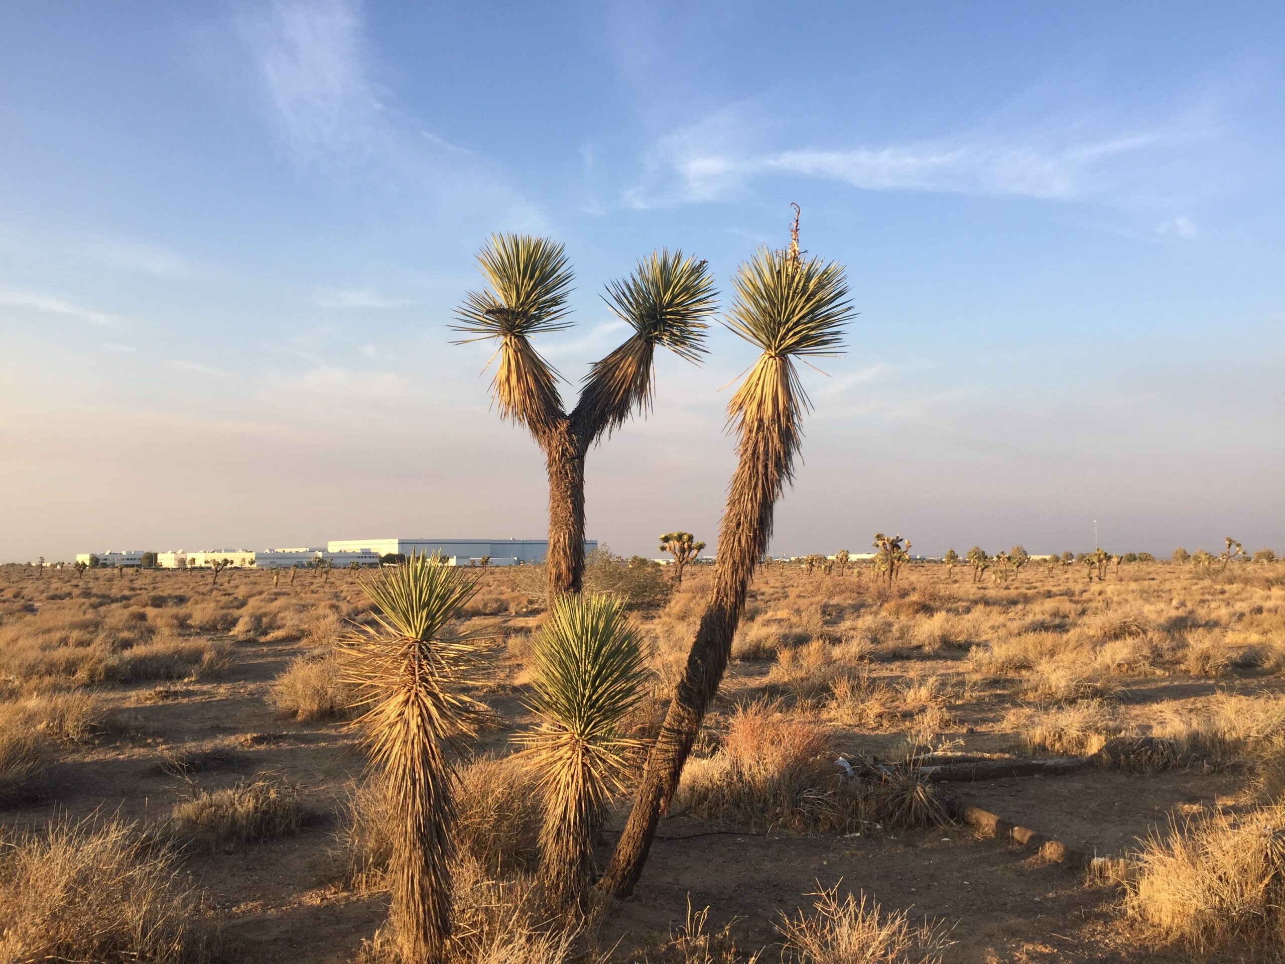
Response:
[{"label": "spiky green leaf head on right branch of the forked Joshua tree", "polygon": [[603,301],[639,338],[699,361],[705,353],[705,319],[714,314],[717,297],[704,261],[662,248],[640,260],[625,280],[609,283]]}]

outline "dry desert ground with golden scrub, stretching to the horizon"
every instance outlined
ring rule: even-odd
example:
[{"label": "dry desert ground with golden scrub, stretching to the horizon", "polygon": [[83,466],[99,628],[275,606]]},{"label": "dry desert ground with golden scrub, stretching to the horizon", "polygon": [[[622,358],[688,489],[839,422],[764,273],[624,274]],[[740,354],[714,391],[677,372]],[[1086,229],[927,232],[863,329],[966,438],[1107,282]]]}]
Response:
[{"label": "dry desert ground with golden scrub, stretching to the horizon", "polygon": [[[634,897],[599,901],[558,958],[538,938],[559,922],[519,906],[540,803],[509,760],[533,725],[542,573],[479,569],[459,613],[487,638],[469,694],[495,713],[457,761],[457,904],[491,932],[472,959],[1271,958],[1285,567],[1088,572],[762,568]],[[335,652],[370,622],[360,578],[0,567],[0,961],[95,928],[153,942],[111,960],[378,959],[387,848]],[[708,580],[590,567],[645,634],[640,740]],[[1029,763],[1046,760],[1064,763]],[[628,805],[613,801],[599,866]],[[786,919],[819,927],[834,887],[901,922],[905,946],[790,943]]]}]

